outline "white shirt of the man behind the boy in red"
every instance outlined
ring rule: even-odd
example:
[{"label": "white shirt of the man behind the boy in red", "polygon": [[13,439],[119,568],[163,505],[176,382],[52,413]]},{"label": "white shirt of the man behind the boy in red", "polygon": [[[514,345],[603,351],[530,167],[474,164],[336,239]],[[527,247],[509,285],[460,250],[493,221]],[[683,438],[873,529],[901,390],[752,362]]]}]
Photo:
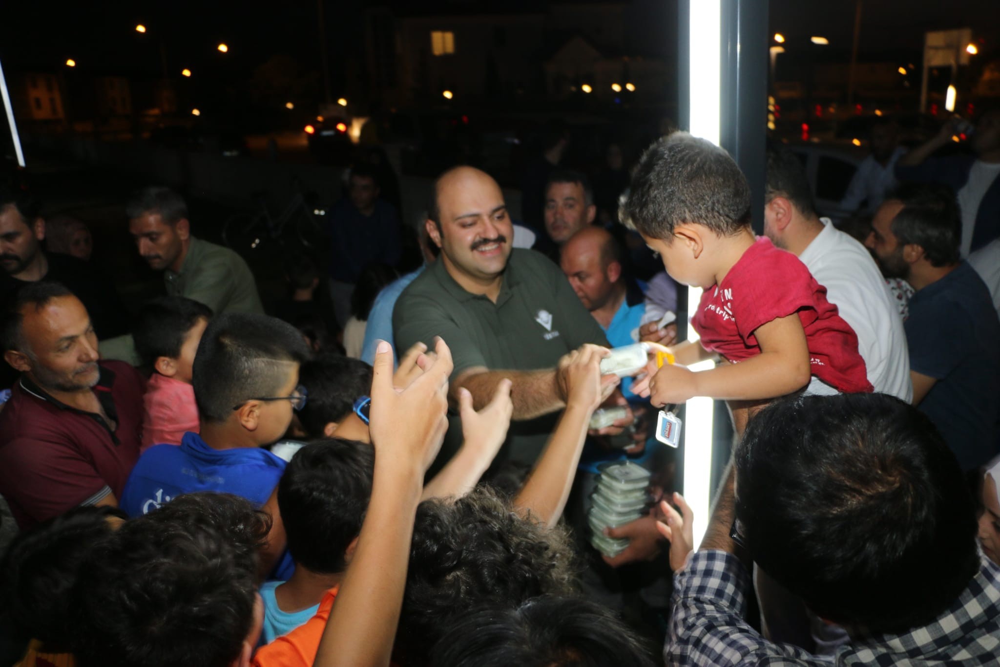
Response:
[{"label": "white shirt of the man behind the boy in red", "polygon": [[823,231],[799,255],[826,298],[858,336],[875,391],[907,403],[913,398],[903,320],[875,260],[863,245],[821,218]]}]

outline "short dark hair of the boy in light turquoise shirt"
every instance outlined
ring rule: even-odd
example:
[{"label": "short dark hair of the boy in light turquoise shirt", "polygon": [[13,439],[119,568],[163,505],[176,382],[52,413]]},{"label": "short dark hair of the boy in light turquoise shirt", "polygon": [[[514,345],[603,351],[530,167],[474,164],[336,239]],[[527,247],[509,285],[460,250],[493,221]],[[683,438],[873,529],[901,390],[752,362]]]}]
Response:
[{"label": "short dark hair of the boy in light turquoise shirt", "polygon": [[374,474],[375,450],[365,442],[330,438],[295,454],[278,484],[278,509],[297,565],[319,574],[347,568],[344,552],[361,532]]}]

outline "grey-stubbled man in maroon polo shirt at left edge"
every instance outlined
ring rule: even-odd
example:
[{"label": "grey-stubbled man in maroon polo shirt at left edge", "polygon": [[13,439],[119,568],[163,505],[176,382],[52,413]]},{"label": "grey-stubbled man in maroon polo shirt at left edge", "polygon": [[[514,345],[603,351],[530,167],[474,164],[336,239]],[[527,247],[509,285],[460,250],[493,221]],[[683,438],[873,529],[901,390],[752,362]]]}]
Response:
[{"label": "grey-stubbled man in maroon polo shirt at left edge", "polygon": [[100,360],[87,309],[59,283],[22,288],[0,332],[20,373],[0,411],[0,495],[18,525],[117,505],[139,457],[142,377]]}]

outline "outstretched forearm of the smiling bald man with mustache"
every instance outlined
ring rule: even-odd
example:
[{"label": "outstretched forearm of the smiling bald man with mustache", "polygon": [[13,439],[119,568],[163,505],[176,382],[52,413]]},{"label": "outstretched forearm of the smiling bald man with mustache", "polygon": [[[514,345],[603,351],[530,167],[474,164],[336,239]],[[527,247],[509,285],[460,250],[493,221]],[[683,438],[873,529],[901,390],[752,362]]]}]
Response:
[{"label": "outstretched forearm of the smiling bald man with mustache", "polygon": [[514,402],[514,415],[511,419],[520,421],[541,417],[565,406],[556,383],[554,368],[537,371],[472,371],[459,376],[452,384],[452,396],[459,387],[465,387],[472,394],[472,405],[476,410],[482,410],[496,394],[497,384],[504,378],[509,379],[513,386],[510,398]]}]

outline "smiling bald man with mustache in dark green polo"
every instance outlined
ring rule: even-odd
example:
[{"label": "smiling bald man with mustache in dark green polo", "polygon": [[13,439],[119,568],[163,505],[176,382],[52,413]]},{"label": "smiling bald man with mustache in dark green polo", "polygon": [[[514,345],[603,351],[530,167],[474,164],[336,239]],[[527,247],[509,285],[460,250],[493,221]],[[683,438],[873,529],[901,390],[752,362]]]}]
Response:
[{"label": "smiling bald man with mustache in dark green polo", "polygon": [[[488,174],[472,167],[442,174],[425,228],[441,256],[396,302],[397,348],[421,341],[433,347],[436,336],[448,343],[455,362],[453,405],[465,389],[482,409],[509,378],[514,422],[496,460],[530,466],[566,406],[559,360],[586,343],[607,346],[604,332],[558,266],[540,253],[512,247],[503,192]],[[606,398],[617,383],[615,376],[603,378]],[[610,400],[619,399],[624,403],[615,392]],[[451,421],[438,464],[459,444],[458,419]],[[620,421],[607,433],[621,432],[631,418]]]}]

